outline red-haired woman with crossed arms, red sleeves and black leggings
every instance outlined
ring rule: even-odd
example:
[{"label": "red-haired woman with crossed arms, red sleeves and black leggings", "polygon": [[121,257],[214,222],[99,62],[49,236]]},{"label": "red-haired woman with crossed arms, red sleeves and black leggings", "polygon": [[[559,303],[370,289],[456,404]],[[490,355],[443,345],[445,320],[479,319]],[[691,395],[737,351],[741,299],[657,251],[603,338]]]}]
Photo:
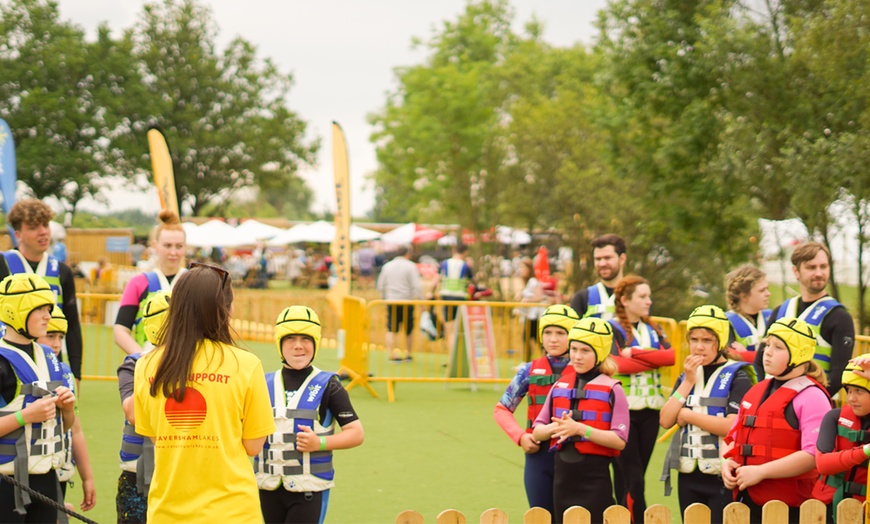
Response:
[{"label": "red-haired woman with crossed arms, red sleeves and black leggings", "polygon": [[614,461],[617,499],[635,522],[646,511],[644,475],[652,459],[659,431],[659,409],[665,404],[658,368],[674,364],[674,350],[661,328],[649,318],[652,291],[646,279],[628,275],[613,292],[616,318],[613,359],[619,367],[614,378],[622,382],[631,413],[631,432],[625,450]]}]

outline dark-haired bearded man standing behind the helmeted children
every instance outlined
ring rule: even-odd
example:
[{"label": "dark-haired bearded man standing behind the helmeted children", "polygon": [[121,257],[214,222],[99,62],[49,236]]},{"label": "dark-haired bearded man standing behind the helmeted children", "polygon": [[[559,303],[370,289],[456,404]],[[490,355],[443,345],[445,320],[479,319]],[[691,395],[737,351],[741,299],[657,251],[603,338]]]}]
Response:
[{"label": "dark-haired bearded man standing behind the helmeted children", "polygon": [[601,235],[592,241],[592,260],[601,279],[595,285],[581,289],[571,298],[571,308],[580,318],[614,318],[616,306],[613,290],[622,279],[625,265],[625,239],[619,235]]}]

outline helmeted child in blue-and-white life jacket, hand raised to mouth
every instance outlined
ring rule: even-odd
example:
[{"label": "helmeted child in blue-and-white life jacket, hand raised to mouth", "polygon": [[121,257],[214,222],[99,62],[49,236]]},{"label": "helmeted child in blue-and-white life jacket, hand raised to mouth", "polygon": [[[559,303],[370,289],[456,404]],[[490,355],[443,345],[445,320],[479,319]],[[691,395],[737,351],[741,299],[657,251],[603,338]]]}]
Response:
[{"label": "helmeted child in blue-and-white life jacket, hand raised to mouth", "polygon": [[679,471],[680,514],[700,502],[710,508],[711,521],[722,522],[731,492],[722,484],[719,448],[740,409],[740,401],[755,384],[755,368],[728,349],[730,322],[722,309],[700,306],[686,323],[689,355],[683,374],[659,413],[663,428],[679,424],[665,458],[662,480],[670,495],[670,470]]}]

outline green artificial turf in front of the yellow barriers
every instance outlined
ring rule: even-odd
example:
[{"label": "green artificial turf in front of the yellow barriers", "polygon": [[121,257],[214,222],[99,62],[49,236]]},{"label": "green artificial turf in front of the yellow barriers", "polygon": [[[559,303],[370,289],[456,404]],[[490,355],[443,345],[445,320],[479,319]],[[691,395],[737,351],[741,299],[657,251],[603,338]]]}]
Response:
[{"label": "green artificial turf in front of the yellow barriers", "polygon": [[[267,370],[277,368],[274,345],[245,345],[263,359]],[[337,369],[335,350],[321,350],[317,365]],[[366,440],[359,448],[335,454],[336,487],[327,522],[394,522],[405,509],[434,522],[447,508],[462,511],[474,522],[491,507],[505,510],[511,522],[521,522],[528,509],[523,454],[492,417],[503,386],[482,385],[472,391],[459,384],[401,383],[394,404],[386,401],[384,384],[374,387],[380,399],[361,388],[351,391]],[[80,416],[97,484],[97,505],[87,516],[114,522],[123,424],[117,384],[85,381],[81,389]],[[665,499],[658,481],[665,447],[656,446],[647,472],[647,503],[668,503],[677,515],[676,495]],[[79,486],[71,493],[69,500],[78,505]]]}]

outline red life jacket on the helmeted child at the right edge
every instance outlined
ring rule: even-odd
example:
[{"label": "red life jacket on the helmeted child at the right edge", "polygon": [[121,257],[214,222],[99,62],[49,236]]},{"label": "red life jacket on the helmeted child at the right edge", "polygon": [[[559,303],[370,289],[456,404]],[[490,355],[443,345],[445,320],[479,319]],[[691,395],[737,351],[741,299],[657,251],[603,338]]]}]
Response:
[{"label": "red life jacket on the helmeted child at the right edge", "polygon": [[[837,419],[837,439],[834,451],[845,451],[870,442],[870,431],[861,429],[861,419],[855,416],[848,404],[840,409]],[[868,459],[870,460],[870,459]],[[822,475],[813,489],[813,498],[836,508],[845,498],[853,498],[863,503],[867,499],[867,463],[837,473]]]}]

